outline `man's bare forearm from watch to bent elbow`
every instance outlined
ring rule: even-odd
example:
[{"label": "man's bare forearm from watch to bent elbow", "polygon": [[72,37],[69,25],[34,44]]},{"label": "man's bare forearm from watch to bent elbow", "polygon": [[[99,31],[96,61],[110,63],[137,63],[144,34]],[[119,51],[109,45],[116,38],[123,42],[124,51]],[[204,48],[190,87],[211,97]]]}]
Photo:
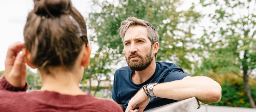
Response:
[{"label": "man's bare forearm from watch to bent elbow", "polygon": [[219,102],[220,84],[206,76],[195,76],[178,81],[157,84],[153,88],[156,97],[185,100],[196,97],[205,104]]}]

